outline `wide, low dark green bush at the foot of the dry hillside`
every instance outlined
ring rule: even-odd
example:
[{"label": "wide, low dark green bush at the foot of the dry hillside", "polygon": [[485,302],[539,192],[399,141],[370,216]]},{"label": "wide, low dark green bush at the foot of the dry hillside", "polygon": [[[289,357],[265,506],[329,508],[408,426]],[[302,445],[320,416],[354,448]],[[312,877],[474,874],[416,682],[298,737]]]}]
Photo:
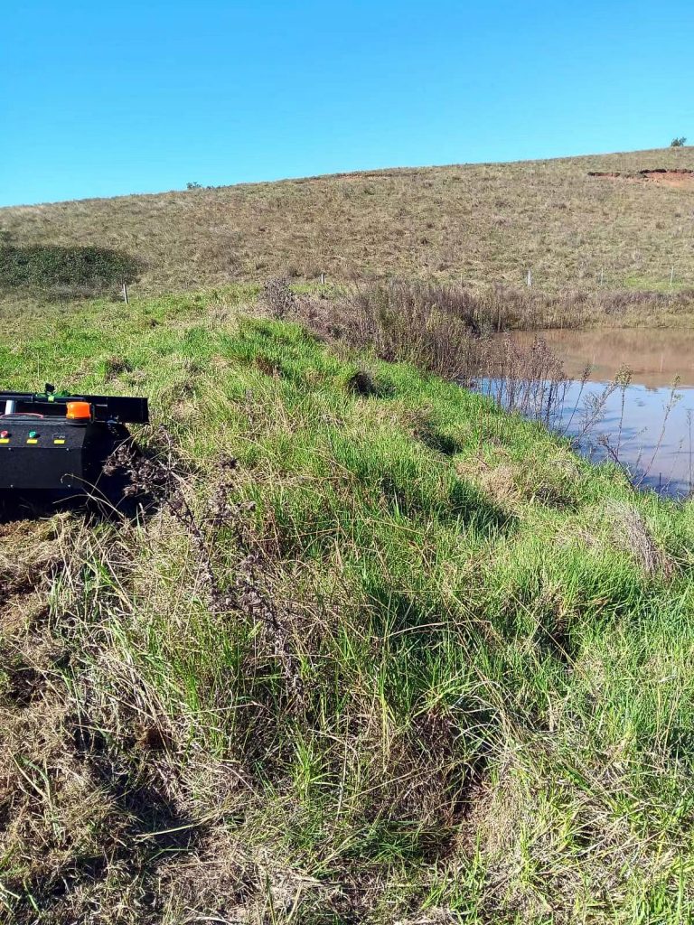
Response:
[{"label": "wide, low dark green bush at the foot of the dry hillside", "polygon": [[0,243],[0,292],[23,289],[54,296],[93,296],[133,282],[139,271],[138,261],[111,248]]}]

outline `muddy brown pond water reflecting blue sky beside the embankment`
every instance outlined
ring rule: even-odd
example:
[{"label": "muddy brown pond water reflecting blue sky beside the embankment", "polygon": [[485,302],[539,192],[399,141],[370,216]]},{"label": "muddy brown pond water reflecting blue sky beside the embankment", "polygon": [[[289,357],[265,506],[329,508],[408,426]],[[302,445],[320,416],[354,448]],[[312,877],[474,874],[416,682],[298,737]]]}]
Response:
[{"label": "muddy brown pond water reflecting blue sky beside the embankment", "polygon": [[[616,453],[641,487],[675,496],[691,491],[694,331],[605,328],[516,331],[512,337],[524,345],[541,337],[563,360],[566,375],[575,381],[553,425],[578,436],[581,450],[596,462]],[[590,373],[581,385],[587,365]],[[624,367],[630,370],[630,384],[607,394]],[[603,398],[601,413],[592,415],[583,433],[590,409]]]}]

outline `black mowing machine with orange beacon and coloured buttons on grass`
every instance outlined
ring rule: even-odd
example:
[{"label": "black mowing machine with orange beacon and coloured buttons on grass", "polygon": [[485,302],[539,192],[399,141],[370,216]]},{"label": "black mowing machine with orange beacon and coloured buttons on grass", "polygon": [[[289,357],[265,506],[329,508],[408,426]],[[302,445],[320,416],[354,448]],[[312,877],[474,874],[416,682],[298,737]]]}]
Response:
[{"label": "black mowing machine with orange beacon and coloured buttons on grass", "polygon": [[130,440],[126,425],[147,424],[147,399],[0,392],[0,500],[53,503],[74,498],[118,502],[105,462]]}]

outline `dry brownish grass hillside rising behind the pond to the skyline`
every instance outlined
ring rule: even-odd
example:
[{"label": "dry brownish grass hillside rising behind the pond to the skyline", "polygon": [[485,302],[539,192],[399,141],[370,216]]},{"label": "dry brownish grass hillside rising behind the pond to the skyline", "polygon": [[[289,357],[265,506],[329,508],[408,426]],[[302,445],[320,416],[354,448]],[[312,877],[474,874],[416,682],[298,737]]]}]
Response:
[{"label": "dry brownish grass hillside rising behind the pond to the skyline", "polygon": [[[393,169],[0,210],[19,245],[113,247],[140,290],[271,275],[422,276],[543,290],[694,286],[691,148]],[[589,173],[622,176],[589,176]],[[181,178],[181,185],[188,178]]]}]

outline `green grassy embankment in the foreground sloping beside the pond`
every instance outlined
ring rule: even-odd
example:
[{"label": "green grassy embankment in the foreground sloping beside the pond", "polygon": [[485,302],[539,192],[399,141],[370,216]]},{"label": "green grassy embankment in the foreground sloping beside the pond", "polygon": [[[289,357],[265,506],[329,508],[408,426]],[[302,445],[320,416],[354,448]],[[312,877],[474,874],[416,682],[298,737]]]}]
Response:
[{"label": "green grassy embankment in the foreground sloping beside the pond", "polygon": [[691,920],[691,503],[231,302],[3,318],[179,484],[0,528],[4,919]]}]

